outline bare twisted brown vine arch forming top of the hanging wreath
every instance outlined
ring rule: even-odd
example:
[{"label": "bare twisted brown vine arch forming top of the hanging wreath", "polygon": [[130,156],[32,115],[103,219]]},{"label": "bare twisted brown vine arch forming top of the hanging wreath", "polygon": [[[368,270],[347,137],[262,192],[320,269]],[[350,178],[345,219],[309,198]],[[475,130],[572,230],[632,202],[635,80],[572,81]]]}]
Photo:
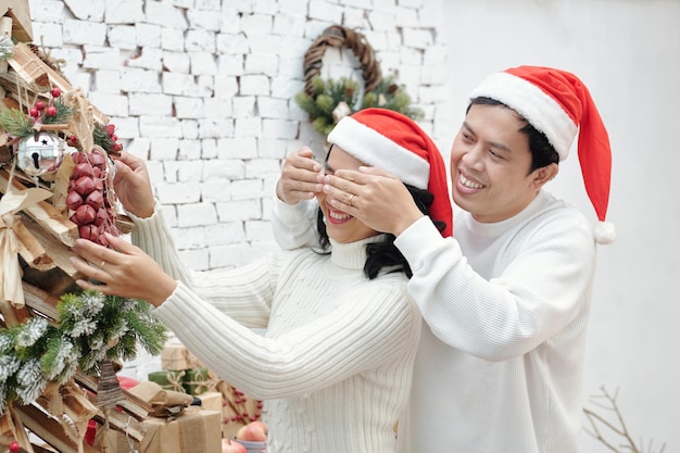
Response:
[{"label": "bare twisted brown vine arch forming top of the hanging wreath", "polygon": [[304,91],[314,97],[312,78],[320,76],[324,54],[329,47],[351,49],[358,60],[364,77],[365,91],[370,91],[382,80],[380,64],[376,60],[376,53],[358,32],[351,30],[340,25],[331,25],[316,38],[304,53]]}]

